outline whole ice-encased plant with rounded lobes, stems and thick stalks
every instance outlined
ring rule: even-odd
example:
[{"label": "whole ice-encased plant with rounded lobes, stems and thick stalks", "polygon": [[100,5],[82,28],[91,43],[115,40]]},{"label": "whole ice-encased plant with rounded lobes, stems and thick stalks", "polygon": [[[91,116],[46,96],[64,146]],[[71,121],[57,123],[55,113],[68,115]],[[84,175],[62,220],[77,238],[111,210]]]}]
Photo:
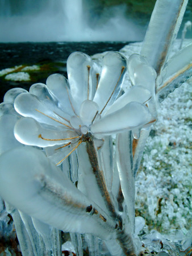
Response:
[{"label": "whole ice-encased plant with rounded lobes, stems and thick stalks", "polygon": [[[137,255],[135,176],[156,121],[157,102],[191,76],[192,44],[169,59],[187,1],[160,0],[141,55],[85,53],[0,106],[0,195],[23,255],[61,255],[69,232],[77,255]],[[122,92],[126,72],[131,88]],[[116,135],[115,152],[112,135]]]}]

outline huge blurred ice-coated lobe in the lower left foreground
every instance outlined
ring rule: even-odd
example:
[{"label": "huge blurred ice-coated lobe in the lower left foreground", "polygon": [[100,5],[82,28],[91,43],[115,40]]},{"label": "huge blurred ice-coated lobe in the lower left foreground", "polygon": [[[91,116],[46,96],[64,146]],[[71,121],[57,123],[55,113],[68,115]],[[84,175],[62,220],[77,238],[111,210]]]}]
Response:
[{"label": "huge blurred ice-coated lobe in the lower left foreground", "polygon": [[[0,156],[0,195],[22,212],[64,232],[114,237],[116,223],[41,150],[15,148]],[[94,209],[98,214],[93,214]]]}]

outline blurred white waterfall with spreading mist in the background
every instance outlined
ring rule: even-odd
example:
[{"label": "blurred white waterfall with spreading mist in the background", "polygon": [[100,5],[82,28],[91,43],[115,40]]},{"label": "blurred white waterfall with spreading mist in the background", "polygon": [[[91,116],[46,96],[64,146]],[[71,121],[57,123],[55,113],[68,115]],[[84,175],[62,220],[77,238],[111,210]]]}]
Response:
[{"label": "blurred white waterfall with spreading mist in the background", "polygon": [[[0,42],[137,41],[126,6],[96,14],[86,0],[0,0]],[[91,7],[90,7],[90,6]]]}]

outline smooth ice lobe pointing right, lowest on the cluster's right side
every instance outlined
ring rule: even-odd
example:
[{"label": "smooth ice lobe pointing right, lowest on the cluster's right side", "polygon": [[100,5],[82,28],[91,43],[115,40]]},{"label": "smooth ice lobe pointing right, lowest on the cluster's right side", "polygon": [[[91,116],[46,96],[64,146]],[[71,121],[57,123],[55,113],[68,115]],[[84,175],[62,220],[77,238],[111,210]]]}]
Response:
[{"label": "smooth ice lobe pointing right, lowest on the cluster's right side", "polygon": [[91,132],[95,135],[119,133],[141,127],[151,121],[151,113],[147,106],[139,102],[130,102],[122,109],[105,115],[91,126]]}]

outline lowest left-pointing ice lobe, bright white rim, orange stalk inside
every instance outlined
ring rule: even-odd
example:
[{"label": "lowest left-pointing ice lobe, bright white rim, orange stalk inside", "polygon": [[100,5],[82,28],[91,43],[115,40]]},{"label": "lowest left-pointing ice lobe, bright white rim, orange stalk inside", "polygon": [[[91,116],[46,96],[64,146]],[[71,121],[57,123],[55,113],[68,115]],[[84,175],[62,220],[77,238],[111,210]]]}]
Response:
[{"label": "lowest left-pointing ice lobe, bright white rim, orange stalk inside", "polygon": [[78,137],[74,131],[44,129],[30,117],[19,119],[14,127],[15,138],[23,144],[48,147],[56,144],[65,144]]}]

